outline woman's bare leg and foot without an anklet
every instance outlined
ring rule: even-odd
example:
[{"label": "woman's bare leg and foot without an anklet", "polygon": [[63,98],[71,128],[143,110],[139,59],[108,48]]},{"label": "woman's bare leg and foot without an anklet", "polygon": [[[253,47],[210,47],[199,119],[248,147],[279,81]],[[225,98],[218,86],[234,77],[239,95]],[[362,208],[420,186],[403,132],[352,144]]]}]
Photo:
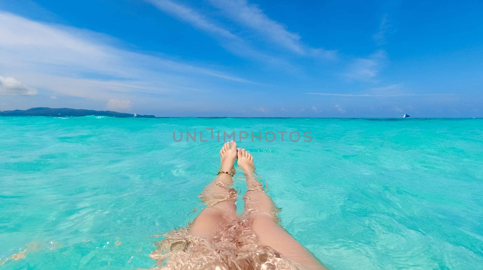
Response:
[{"label": "woman's bare leg and foot without an anklet", "polygon": [[243,169],[246,176],[248,191],[245,201],[245,213],[252,221],[252,229],[262,245],[270,246],[306,269],[323,270],[322,263],[305,249],[295,238],[278,224],[274,214],[275,205],[263,190],[263,186],[254,177],[253,156],[242,149],[238,153],[238,166]]}]

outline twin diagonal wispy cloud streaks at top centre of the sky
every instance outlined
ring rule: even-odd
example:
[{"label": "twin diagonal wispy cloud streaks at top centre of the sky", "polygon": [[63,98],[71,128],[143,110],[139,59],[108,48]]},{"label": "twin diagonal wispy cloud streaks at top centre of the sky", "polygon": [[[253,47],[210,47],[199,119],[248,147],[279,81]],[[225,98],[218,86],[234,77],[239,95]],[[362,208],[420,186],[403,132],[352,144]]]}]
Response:
[{"label": "twin diagonal wispy cloud streaks at top centre of the sky", "polygon": [[[267,51],[258,48],[256,43],[259,40],[250,41],[250,39],[243,38],[223,27],[213,18],[201,14],[193,8],[171,0],[145,1],[155,6],[158,10],[207,33],[234,55],[268,63],[278,69],[298,72],[298,68],[285,60],[284,56],[277,56],[272,50]],[[270,44],[276,44],[279,47],[295,52],[299,56],[322,57],[326,59],[334,59],[336,57],[335,50],[305,46],[299,41],[300,37],[298,34],[289,32],[283,25],[271,20],[260,9],[254,5],[249,5],[246,1],[212,1],[212,3],[220,7],[230,19],[239,22],[242,27],[250,28],[258,34],[258,37],[262,37],[262,40],[268,40]],[[231,8],[240,9],[243,11],[243,14],[238,12],[239,10],[232,13]],[[253,35],[251,36],[253,37]]]}]

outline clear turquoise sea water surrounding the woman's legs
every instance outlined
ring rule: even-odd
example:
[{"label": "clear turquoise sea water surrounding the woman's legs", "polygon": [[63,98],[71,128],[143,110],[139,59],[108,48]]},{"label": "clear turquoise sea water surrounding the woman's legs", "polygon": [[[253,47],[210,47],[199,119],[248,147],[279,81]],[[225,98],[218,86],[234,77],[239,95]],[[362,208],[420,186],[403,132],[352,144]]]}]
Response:
[{"label": "clear turquoise sea water surrounding the woman's legs", "polygon": [[[330,269],[482,269],[483,119],[95,116],[0,117],[0,268],[153,266],[153,236],[196,217],[219,169],[205,128],[312,132],[238,143]],[[186,130],[209,142],[173,141]]]}]

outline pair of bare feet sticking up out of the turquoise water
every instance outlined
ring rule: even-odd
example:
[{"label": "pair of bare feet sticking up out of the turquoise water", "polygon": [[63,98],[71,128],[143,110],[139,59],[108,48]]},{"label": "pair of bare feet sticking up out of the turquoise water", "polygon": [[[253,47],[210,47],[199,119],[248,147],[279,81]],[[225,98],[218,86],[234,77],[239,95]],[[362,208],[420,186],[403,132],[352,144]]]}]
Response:
[{"label": "pair of bare feet sticking up out of the turquoise water", "polygon": [[237,148],[235,141],[226,142],[220,150],[221,171],[235,172],[235,161],[245,173],[255,170],[253,156],[244,148]]}]

